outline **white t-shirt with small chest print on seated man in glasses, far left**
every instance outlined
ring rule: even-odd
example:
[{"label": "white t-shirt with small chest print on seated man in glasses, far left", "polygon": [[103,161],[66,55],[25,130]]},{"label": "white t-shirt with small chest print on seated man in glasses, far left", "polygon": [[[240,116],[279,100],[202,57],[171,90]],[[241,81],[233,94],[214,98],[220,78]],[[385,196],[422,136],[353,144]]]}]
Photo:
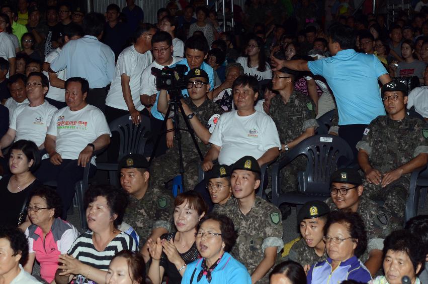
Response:
[{"label": "white t-shirt with small chest print on seated man in glasses, far left", "polygon": [[47,100],[39,106],[31,107],[30,104],[18,106],[9,125],[10,128],[16,130],[15,141],[27,139],[40,147],[45,141],[52,115],[57,110]]}]

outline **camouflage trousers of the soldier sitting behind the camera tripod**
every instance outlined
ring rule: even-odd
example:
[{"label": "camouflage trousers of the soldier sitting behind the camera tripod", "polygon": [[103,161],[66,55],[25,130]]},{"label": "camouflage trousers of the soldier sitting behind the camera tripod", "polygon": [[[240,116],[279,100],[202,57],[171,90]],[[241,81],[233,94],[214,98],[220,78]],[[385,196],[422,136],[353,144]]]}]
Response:
[{"label": "camouflage trousers of the soldier sitting behind the camera tripod", "polygon": [[[180,175],[180,158],[179,152],[168,149],[160,157],[156,157],[150,165],[150,182],[153,188],[160,190],[165,189],[165,183],[177,175]],[[198,153],[189,155],[183,153],[184,166],[184,187],[186,191],[193,190],[198,184],[198,171],[201,165],[201,159]]]}]

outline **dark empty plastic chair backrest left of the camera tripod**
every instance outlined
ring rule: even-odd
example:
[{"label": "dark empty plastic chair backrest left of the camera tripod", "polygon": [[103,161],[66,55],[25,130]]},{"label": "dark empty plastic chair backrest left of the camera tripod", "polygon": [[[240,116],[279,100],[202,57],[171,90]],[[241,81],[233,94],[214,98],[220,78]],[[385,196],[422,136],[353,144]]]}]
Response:
[{"label": "dark empty plastic chair backrest left of the camera tripod", "polygon": [[142,115],[140,124],[135,125],[127,114],[110,122],[109,127],[120,136],[118,161],[127,154],[144,154],[150,131],[149,117]]}]

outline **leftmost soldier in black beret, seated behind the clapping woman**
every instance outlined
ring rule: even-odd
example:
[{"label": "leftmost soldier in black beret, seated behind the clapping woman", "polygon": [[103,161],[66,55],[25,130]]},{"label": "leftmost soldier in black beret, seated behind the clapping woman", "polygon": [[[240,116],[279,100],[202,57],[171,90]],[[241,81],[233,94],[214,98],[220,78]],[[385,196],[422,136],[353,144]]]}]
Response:
[{"label": "leftmost soldier in black beret, seated behind the clapping woman", "polygon": [[173,197],[150,188],[146,158],[138,154],[126,155],[119,161],[120,184],[129,193],[129,205],[123,220],[140,236],[139,248],[147,261],[146,242],[169,232],[173,216]]}]

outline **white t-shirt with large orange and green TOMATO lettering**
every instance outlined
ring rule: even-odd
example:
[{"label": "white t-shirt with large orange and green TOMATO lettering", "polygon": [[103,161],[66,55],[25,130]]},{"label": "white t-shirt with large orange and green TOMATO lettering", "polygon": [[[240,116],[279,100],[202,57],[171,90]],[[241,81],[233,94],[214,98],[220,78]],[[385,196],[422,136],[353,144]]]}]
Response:
[{"label": "white t-shirt with large orange and green TOMATO lettering", "polygon": [[[77,160],[80,152],[99,136],[112,136],[104,113],[90,104],[76,111],[68,106],[56,111],[47,134],[56,136],[56,152],[61,158],[71,160]],[[91,164],[95,165],[95,157]]]}]

